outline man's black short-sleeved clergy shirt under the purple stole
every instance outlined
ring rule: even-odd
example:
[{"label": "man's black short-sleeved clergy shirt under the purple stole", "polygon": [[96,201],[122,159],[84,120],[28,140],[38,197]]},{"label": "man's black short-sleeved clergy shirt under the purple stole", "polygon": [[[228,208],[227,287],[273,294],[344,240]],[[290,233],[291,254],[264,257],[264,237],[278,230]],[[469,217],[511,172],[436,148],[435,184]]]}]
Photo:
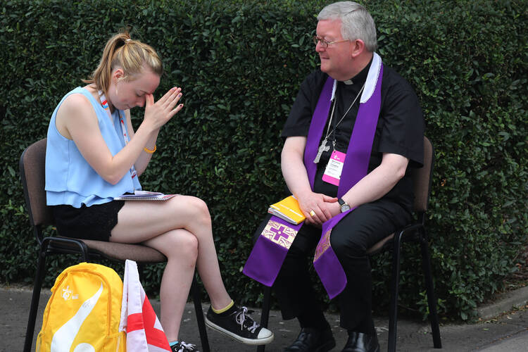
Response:
[{"label": "man's black short-sleeved clergy shirt under the purple stole", "polygon": [[[358,75],[351,78],[353,84],[338,82],[334,101],[337,106],[334,111],[334,118],[332,118],[332,126],[329,128],[330,132],[332,127],[341,120],[360,92],[361,87],[363,87],[371,63],[372,60]],[[310,73],[302,82],[294,106],[292,106],[289,117],[284,124],[282,137],[308,136],[313,111],[315,111],[322,86],[325,84],[327,77],[326,73],[316,70]],[[330,146],[330,149],[322,153],[318,163],[318,172],[315,175],[314,191],[317,193],[337,196],[337,186],[322,181],[322,175],[332,155],[333,141],[335,141],[335,149],[346,153],[353,124],[356,121],[359,101],[360,97],[358,97],[345,118],[337,125],[335,132],[329,134],[327,145]],[[330,106],[329,115],[332,113],[334,103]],[[318,145],[320,145],[327,134],[328,123],[329,118],[327,118],[327,123]],[[374,170],[382,162],[382,153],[395,153],[409,158],[406,176],[385,195],[386,198],[394,200],[408,211],[411,211],[413,206],[413,184],[409,169],[410,167],[422,166],[423,135],[424,120],[422,110],[413,88],[396,71],[384,66],[382,106],[376,126],[368,172]]]}]

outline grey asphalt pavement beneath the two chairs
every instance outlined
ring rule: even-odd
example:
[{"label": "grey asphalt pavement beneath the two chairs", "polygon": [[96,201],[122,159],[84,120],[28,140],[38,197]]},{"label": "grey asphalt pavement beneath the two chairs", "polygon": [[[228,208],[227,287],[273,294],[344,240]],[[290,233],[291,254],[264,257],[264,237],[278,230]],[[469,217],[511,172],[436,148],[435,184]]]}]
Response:
[{"label": "grey asphalt pavement beneath the two chairs", "polygon": [[[39,302],[39,314],[35,327],[34,341],[42,325],[42,313],[51,292],[43,289]],[[0,351],[22,351],[29,307],[31,288],[10,287],[0,284]],[[152,306],[159,316],[159,301],[151,299]],[[434,349],[429,322],[420,320],[398,319],[397,351],[528,351],[528,287],[511,291],[499,297],[494,303],[479,307],[480,319],[471,323],[441,323],[440,334],[442,349]],[[203,303],[203,312],[208,303]],[[260,308],[252,308],[253,319],[260,321]],[[180,339],[198,344],[200,342],[196,326],[194,306],[187,304],[184,312]],[[347,334],[339,327],[339,316],[327,314],[337,346],[332,352],[341,351]],[[376,317],[381,351],[386,351],[389,331],[388,317]],[[275,339],[265,348],[266,351],[283,351],[284,347],[296,339],[299,327],[296,320],[283,321],[280,313],[270,312],[269,328],[275,333]],[[240,344],[224,335],[208,329],[211,351],[244,352],[256,351],[255,346]]]}]

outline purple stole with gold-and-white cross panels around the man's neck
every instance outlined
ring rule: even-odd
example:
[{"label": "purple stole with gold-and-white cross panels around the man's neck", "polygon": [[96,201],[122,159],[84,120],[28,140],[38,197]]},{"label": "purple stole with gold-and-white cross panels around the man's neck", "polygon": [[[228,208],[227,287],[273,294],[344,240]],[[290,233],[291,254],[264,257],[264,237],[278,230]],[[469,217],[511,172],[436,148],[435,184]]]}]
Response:
[{"label": "purple stole with gold-and-white cross panels around the man's neck", "polygon": [[[374,53],[372,65],[367,75],[365,89],[360,99],[360,107],[350,143],[346,151],[346,158],[337,188],[337,196],[341,197],[348,189],[361,180],[368,171],[372,142],[376,132],[377,120],[382,101],[382,76],[383,64],[381,58]],[[313,189],[317,164],[313,159],[317,155],[319,142],[328,118],[328,113],[334,98],[337,82],[328,77],[322,87],[319,101],[315,107],[306,148],[304,150],[304,165],[308,172],[310,187]],[[315,250],[313,266],[318,273],[329,298],[334,298],[346,287],[346,274],[339,263],[339,259],[330,246],[330,234],[332,228],[344,218],[351,210],[334,216],[322,224],[322,236]],[[284,258],[288,253],[295,235],[303,224],[293,225],[276,216],[272,216],[258,237],[249,258],[244,265],[244,274],[256,279],[256,281],[272,286],[279,274]]]}]

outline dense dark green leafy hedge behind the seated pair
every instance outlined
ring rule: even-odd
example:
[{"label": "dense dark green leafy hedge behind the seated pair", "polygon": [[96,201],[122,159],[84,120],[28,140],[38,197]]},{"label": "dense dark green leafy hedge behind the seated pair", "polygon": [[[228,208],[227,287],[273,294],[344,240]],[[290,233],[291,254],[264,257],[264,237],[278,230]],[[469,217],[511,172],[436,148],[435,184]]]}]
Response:
[{"label": "dense dark green leafy hedge behind the seated pair", "polygon": [[[45,137],[54,107],[82,85],[108,37],[130,26],[154,46],[185,104],[161,130],[145,189],[204,199],[226,286],[260,302],[241,274],[251,234],[282,195],[279,137],[298,85],[317,68],[310,37],[323,1],[3,1],[0,5],[0,282],[32,281],[36,246],[18,158]],[[502,289],[527,244],[527,10],[524,1],[365,1],[379,54],[420,97],[436,148],[427,225],[440,313],[471,318]],[[138,125],[142,111],[132,111]],[[424,314],[420,256],[403,252],[403,306]],[[50,262],[47,284],[65,262]],[[388,305],[389,255],[372,260]],[[158,286],[162,267],[146,272]],[[321,292],[324,296],[324,293]]]}]

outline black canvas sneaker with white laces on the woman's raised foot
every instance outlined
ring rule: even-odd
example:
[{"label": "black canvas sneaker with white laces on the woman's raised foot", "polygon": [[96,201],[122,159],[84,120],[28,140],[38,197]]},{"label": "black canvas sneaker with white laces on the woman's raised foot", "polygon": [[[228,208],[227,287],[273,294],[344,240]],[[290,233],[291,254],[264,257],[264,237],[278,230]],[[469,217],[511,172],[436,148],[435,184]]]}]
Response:
[{"label": "black canvas sneaker with white laces on the woman's raised foot", "polygon": [[248,345],[264,345],[273,341],[273,333],[260,327],[249,315],[248,308],[241,307],[228,315],[216,314],[209,307],[206,325]]}]

